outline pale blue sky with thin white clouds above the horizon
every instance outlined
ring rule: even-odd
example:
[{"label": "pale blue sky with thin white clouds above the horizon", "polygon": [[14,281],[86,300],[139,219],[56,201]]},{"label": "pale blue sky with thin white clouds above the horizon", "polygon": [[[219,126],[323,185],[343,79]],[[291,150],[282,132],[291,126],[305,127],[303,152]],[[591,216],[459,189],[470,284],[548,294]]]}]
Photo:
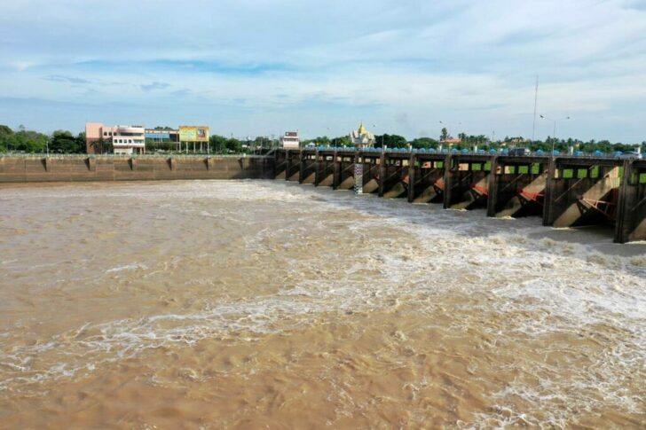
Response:
[{"label": "pale blue sky with thin white clouds above the horizon", "polygon": [[86,121],[642,142],[646,0],[2,0],[0,124]]}]

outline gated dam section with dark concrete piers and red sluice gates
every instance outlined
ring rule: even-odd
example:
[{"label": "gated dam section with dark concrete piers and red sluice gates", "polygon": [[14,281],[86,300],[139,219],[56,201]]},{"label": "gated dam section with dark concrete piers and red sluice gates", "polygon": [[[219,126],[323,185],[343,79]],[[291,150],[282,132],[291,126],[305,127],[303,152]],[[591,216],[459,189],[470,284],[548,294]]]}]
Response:
[{"label": "gated dam section with dark concrete piers and red sluice gates", "polygon": [[646,239],[646,160],[344,148],[279,149],[274,157],[276,179],[335,190],[360,180],[362,192],[380,197],[538,215],[554,227],[613,223],[615,242]]}]

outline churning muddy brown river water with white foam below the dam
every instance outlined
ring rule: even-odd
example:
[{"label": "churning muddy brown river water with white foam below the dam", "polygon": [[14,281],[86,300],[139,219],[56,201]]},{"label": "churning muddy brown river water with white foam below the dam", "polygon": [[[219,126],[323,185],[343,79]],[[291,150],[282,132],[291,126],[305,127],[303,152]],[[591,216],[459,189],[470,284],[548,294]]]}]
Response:
[{"label": "churning muddy brown river water with white foam below the dam", "polygon": [[0,427],[646,426],[646,245],[281,181],[0,189]]}]

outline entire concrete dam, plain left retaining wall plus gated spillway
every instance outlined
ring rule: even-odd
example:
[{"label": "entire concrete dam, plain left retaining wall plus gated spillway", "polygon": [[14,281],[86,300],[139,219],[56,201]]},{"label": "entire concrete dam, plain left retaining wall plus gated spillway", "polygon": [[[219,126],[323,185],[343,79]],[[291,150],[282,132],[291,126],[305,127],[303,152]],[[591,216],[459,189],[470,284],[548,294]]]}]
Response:
[{"label": "entire concrete dam, plain left retaining wall plus gated spillway", "polygon": [[0,184],[173,179],[285,179],[387,199],[541,216],[543,224],[615,226],[646,239],[646,160],[326,149],[265,155],[0,156]]}]

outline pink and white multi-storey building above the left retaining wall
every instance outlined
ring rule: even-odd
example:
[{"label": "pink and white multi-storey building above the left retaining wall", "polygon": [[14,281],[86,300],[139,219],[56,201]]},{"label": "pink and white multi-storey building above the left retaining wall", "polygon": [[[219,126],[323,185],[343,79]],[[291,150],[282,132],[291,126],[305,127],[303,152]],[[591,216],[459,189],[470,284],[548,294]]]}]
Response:
[{"label": "pink and white multi-storey building above the left retaining wall", "polygon": [[112,146],[114,153],[146,153],[146,130],[138,125],[106,127],[100,122],[85,123],[85,149],[88,153],[106,152]]}]

